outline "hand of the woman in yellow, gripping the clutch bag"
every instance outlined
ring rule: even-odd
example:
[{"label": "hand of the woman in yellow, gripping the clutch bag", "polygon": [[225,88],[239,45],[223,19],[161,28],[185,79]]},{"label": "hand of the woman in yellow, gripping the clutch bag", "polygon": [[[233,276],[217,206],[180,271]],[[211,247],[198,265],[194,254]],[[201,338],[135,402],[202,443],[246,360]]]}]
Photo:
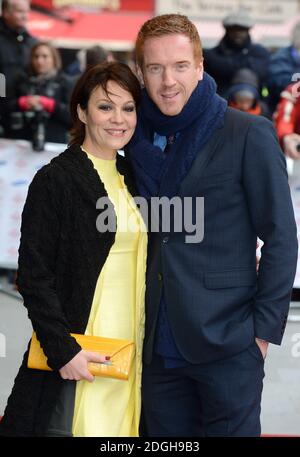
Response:
[{"label": "hand of the woman in yellow, gripping the clutch bag", "polygon": [[86,381],[93,382],[95,377],[88,370],[88,362],[100,363],[109,360],[105,355],[99,355],[95,352],[81,350],[73,357],[70,362],[63,366],[59,372],[63,379],[73,381]]}]

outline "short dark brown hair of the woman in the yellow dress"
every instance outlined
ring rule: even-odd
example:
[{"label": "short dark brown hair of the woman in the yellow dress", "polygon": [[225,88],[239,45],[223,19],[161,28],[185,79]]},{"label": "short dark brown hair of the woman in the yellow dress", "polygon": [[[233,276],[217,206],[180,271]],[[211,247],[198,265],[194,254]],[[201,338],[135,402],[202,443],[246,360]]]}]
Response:
[{"label": "short dark brown hair of the woman in the yellow dress", "polygon": [[81,109],[86,110],[93,90],[98,87],[102,87],[107,94],[107,83],[109,81],[119,84],[132,95],[136,106],[139,104],[141,95],[140,83],[127,65],[120,62],[103,62],[87,68],[78,79],[71,96],[70,112],[73,126],[70,132],[70,145],[81,145],[85,138],[85,124],[78,117],[78,105]]}]

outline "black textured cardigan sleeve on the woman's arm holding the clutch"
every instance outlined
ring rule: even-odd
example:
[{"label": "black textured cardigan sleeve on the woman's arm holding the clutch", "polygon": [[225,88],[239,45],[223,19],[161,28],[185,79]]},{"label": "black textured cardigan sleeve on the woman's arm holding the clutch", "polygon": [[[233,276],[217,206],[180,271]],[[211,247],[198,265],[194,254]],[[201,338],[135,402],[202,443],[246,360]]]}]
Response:
[{"label": "black textured cardigan sleeve on the woman's arm holding the clutch", "polygon": [[70,336],[55,284],[60,238],[59,207],[62,186],[51,165],[43,167],[29,186],[22,213],[17,285],[24,306],[48,358],[58,370],[80,350]]}]

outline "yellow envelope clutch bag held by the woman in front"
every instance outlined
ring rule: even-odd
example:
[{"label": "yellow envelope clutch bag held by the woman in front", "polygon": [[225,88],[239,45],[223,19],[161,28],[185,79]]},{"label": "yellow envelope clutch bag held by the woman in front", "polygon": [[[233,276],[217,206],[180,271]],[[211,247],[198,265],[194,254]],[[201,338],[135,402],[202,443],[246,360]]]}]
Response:
[{"label": "yellow envelope clutch bag held by the woman in front", "polygon": [[[110,360],[107,362],[90,362],[88,364],[90,373],[94,376],[128,379],[135,353],[133,341],[103,338],[101,336],[77,335],[75,333],[71,333],[71,336],[76,339],[82,349],[110,356]],[[27,366],[36,370],[52,371],[47,365],[47,358],[35,332],[33,332],[31,338]]]}]

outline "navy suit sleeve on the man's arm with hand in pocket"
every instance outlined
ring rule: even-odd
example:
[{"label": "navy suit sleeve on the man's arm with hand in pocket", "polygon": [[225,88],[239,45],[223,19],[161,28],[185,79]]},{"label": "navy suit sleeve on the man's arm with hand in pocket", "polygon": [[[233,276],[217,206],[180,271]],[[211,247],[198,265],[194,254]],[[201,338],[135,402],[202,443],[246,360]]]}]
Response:
[{"label": "navy suit sleeve on the man's arm with hand in pocket", "polygon": [[251,124],[243,161],[243,185],[257,236],[264,242],[254,299],[255,336],[280,344],[297,265],[297,228],[285,159],[266,119]]}]

